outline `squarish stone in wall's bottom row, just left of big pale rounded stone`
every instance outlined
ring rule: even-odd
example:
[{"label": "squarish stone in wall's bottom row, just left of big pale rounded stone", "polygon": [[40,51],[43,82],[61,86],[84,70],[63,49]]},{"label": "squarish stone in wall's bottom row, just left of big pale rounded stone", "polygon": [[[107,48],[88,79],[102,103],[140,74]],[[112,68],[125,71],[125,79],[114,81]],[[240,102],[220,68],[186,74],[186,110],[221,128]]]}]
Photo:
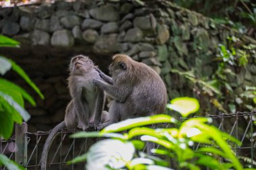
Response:
[{"label": "squarish stone in wall's bottom row, just left of big pale rounded stone", "polygon": [[46,46],[50,44],[50,35],[47,32],[34,30],[31,34],[31,42],[34,46]]}]

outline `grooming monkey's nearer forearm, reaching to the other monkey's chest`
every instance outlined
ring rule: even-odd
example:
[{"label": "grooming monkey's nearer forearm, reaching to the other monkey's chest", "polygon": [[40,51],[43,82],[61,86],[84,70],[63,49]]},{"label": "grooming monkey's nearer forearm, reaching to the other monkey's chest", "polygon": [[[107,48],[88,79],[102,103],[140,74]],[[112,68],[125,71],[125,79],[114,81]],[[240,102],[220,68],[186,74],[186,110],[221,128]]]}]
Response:
[{"label": "grooming monkey's nearer forearm, reaching to the other monkey's chest", "polygon": [[114,99],[116,99],[119,102],[124,102],[125,99],[127,99],[127,96],[131,93],[132,88],[124,89],[122,87],[115,87],[115,85],[110,85],[100,79],[94,79],[93,80],[94,85],[100,87],[100,89],[103,89],[108,93],[108,95],[111,95]]}]

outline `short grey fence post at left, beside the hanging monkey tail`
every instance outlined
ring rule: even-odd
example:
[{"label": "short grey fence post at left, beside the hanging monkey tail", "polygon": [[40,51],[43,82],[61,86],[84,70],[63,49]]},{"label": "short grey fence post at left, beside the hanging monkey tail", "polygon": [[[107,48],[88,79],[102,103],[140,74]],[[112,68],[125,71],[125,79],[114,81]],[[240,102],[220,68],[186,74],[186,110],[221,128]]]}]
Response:
[{"label": "short grey fence post at left, beside the hanging monkey tail", "polygon": [[15,145],[18,148],[15,153],[15,161],[20,165],[26,165],[28,157],[28,138],[26,137],[28,132],[28,124],[22,122],[22,124],[15,124]]}]

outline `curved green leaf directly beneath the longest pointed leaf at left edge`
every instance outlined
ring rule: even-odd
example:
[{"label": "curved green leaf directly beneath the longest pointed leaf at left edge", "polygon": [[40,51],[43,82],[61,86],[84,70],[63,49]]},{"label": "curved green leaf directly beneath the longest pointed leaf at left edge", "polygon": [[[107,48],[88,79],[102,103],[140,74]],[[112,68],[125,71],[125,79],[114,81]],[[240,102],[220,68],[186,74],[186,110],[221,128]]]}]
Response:
[{"label": "curved green leaf directly beneath the longest pointed leaf at left edge", "polygon": [[[1,89],[11,89],[11,91],[18,91],[19,93],[22,94],[24,99],[26,99],[28,102],[30,102],[31,105],[33,105],[33,106],[36,105],[36,102],[34,101],[34,99],[32,98],[31,95],[29,95],[24,89],[22,89],[22,87],[15,85],[11,81],[7,81],[6,79],[0,78],[0,91],[2,91]],[[11,97],[13,97],[13,96],[11,95]]]}]

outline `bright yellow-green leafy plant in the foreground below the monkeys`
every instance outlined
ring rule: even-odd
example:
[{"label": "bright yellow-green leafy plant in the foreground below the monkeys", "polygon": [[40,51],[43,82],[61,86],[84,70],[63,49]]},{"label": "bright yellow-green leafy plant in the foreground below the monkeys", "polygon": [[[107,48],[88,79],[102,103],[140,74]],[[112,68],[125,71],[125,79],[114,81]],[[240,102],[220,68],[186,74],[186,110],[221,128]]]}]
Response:
[{"label": "bright yellow-green leafy plant in the foreground below the monkeys", "polygon": [[[77,132],[73,134],[73,138],[108,137],[112,139],[100,140],[100,142],[92,145],[88,153],[73,159],[71,163],[86,160],[88,170],[169,170],[169,167],[174,168],[176,164],[179,168],[196,170],[201,169],[201,167],[243,169],[227,141],[232,141],[238,145],[241,143],[229,134],[221,132],[215,126],[209,125],[212,122],[211,118],[187,119],[186,116],[189,113],[197,112],[199,108],[196,99],[177,98],[168,104],[168,108],[179,108],[177,111],[181,110],[181,107],[183,107],[181,113],[184,117],[181,122],[168,115],[156,115],[125,120],[107,126],[100,132]],[[171,128],[141,127],[160,122],[170,124]],[[123,132],[124,130],[125,132]],[[136,137],[139,137],[140,140],[137,140]],[[160,145],[159,148],[154,148],[151,151],[157,157],[141,152],[145,142],[154,142]],[[197,142],[201,143],[201,147],[195,152],[191,147]],[[123,153],[126,153],[125,157],[123,157]],[[174,160],[175,163],[170,165],[170,162],[160,158],[163,156]],[[220,163],[221,158],[225,160],[225,163]]]}]

